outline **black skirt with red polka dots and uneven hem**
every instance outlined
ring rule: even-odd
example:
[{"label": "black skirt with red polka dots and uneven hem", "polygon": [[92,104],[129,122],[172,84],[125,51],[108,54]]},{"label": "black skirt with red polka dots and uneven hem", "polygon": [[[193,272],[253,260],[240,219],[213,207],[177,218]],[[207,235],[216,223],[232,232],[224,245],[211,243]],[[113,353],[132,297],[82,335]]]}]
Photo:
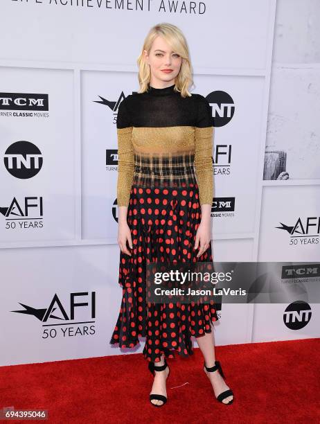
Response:
[{"label": "black skirt with red polka dots and uneven hem", "polygon": [[191,337],[211,333],[217,321],[215,304],[150,303],[146,301],[145,265],[152,262],[212,262],[211,243],[202,256],[194,250],[201,221],[197,184],[177,188],[146,188],[132,184],[127,223],[132,256],[120,252],[119,284],[123,290],[118,320],[110,344],[132,348],[145,337],[145,359],[161,355],[193,355]]}]

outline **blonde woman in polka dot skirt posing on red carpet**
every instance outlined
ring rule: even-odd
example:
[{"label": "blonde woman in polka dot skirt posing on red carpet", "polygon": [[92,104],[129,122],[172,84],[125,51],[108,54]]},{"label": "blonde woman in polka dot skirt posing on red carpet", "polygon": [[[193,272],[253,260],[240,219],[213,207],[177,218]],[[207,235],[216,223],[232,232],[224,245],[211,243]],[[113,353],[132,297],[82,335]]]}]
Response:
[{"label": "blonde woman in polka dot skirt posing on red carpet", "polygon": [[143,355],[154,375],[150,402],[159,407],[167,400],[166,358],[175,357],[175,351],[192,355],[194,335],[216,398],[230,405],[233,393],[215,361],[212,321],[218,318],[213,301],[194,305],[145,299],[146,264],[213,260],[211,107],[206,98],[188,91],[192,83],[188,46],[177,26],[151,28],[138,64],[140,90],[118,108],[123,299],[110,344],[130,348],[139,343],[139,336],[146,337]]}]

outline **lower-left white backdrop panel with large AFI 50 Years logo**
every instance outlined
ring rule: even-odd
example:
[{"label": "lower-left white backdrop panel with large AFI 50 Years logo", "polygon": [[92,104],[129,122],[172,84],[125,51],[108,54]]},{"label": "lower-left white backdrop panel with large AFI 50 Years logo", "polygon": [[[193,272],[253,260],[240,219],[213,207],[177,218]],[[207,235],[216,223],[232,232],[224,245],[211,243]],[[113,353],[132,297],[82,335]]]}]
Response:
[{"label": "lower-left white backdrop panel with large AFI 50 Years logo", "polygon": [[[1,349],[0,365],[110,353],[108,342],[122,294],[115,279],[118,251],[115,245],[15,249],[15,255],[11,249],[3,249],[1,272],[10,290],[3,290],[0,299],[0,319],[6,323],[1,325],[0,343],[6,348]],[[87,302],[89,306],[75,307],[74,319],[70,319],[70,295],[82,292],[89,294],[77,296],[75,303]],[[96,292],[95,317],[91,314],[91,292]],[[55,303],[56,309],[45,319],[42,310],[47,310],[55,294],[67,317]],[[37,311],[29,309],[28,315],[11,312],[26,310],[20,303]],[[76,333],[77,328],[80,333]],[[43,338],[45,330],[50,336]]]}]

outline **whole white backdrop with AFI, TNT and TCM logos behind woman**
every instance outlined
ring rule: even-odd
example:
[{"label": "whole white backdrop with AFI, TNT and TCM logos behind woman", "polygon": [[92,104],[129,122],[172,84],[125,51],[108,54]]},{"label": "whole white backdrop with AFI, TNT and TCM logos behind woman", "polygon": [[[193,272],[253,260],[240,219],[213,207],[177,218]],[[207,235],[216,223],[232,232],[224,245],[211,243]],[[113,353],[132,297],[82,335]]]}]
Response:
[{"label": "whole white backdrop with AFI, TNT and TCM logos behind woman", "polygon": [[[214,260],[319,260],[317,160],[299,136],[267,138],[276,1],[2,0],[0,12],[0,365],[143,349],[109,345],[122,297],[116,117],[160,22],[184,31],[192,92],[212,107]],[[281,90],[278,114],[294,81]],[[318,305],[302,300],[222,303],[216,344],[319,336]]]}]

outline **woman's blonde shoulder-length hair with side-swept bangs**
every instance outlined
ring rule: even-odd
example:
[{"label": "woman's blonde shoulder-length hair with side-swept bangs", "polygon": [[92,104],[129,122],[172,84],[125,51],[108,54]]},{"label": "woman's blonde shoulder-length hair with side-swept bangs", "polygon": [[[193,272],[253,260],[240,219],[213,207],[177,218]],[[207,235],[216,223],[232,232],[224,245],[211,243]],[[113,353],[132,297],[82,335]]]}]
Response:
[{"label": "woman's blonde shoulder-length hair with side-swept bangs", "polygon": [[190,62],[190,55],[189,55],[189,49],[188,44],[186,42],[186,38],[184,37],[184,34],[181,32],[181,30],[172,24],[168,24],[166,22],[163,22],[162,24],[157,24],[153,26],[147,37],[145,37],[145,41],[143,43],[142,51],[139,55],[139,58],[137,60],[138,66],[139,66],[139,85],[140,89],[138,93],[144,93],[148,89],[148,84],[151,80],[151,72],[150,72],[150,66],[145,60],[145,55],[143,55],[143,50],[148,51],[148,54],[150,53],[152,44],[154,42],[154,39],[158,36],[163,37],[163,39],[166,40],[166,42],[169,44],[169,46],[172,48],[172,51],[175,51],[178,55],[181,56],[181,68],[180,71],[175,78],[175,88],[174,90],[181,93],[181,97],[190,97],[192,94],[188,91],[188,87],[190,85],[193,85],[193,78],[192,78],[192,67]]}]

